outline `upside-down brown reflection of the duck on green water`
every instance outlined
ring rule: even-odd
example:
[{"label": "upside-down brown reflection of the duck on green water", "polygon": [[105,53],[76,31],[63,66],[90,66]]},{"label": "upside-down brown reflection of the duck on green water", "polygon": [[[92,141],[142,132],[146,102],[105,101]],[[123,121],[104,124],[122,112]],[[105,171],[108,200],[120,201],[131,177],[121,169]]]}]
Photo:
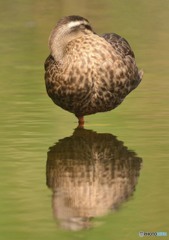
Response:
[{"label": "upside-down brown reflection of the duck on green water", "polygon": [[93,217],[117,209],[132,195],[141,162],[112,134],[77,128],[48,152],[55,218],[65,229],[90,227]]}]

